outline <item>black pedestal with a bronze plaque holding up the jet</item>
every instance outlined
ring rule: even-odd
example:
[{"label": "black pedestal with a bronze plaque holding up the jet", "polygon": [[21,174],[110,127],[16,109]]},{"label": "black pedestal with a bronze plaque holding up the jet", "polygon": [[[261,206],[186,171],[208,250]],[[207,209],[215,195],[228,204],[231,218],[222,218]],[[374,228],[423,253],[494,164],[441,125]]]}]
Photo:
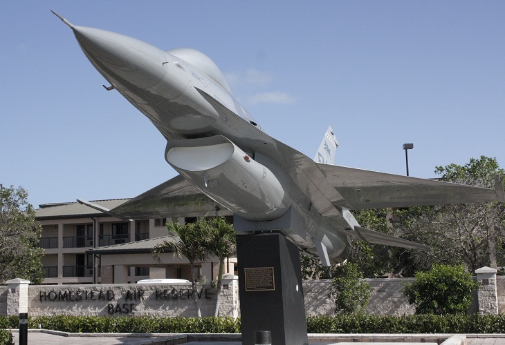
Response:
[{"label": "black pedestal with a bronze plaque holding up the jet", "polygon": [[255,331],[271,331],[275,345],[309,344],[298,248],[279,233],[239,235],[237,262],[242,344],[255,344]]}]

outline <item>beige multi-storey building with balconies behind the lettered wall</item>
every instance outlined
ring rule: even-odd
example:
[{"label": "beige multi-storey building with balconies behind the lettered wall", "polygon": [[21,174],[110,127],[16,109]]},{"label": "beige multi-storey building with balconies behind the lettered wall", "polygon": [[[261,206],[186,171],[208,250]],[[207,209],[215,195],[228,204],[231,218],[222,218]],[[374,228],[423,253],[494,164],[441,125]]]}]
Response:
[{"label": "beige multi-storey building with balconies behind the lettered wall", "polygon": [[[129,199],[93,201],[111,209]],[[78,202],[43,204],[36,210],[42,224],[39,246],[44,248],[44,284],[125,284],[149,278],[191,280],[185,258],[163,253],[156,262],[151,250],[167,235],[164,218],[125,221]],[[188,212],[192,216],[194,213]],[[216,215],[232,221],[228,210]],[[196,217],[181,217],[181,223]],[[226,262],[224,273],[234,273],[236,258]],[[217,277],[219,260],[198,263],[199,275],[207,281]]]}]

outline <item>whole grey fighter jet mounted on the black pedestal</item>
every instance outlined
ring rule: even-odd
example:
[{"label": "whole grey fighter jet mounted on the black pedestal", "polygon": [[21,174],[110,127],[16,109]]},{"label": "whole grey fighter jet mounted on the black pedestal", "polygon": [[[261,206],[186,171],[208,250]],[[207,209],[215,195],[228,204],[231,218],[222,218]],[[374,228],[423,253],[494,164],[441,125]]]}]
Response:
[{"label": "whole grey fighter jet mounted on the black pedestal", "polygon": [[[338,144],[331,128],[310,159],[261,130],[203,53],[160,50],[115,32],[74,26],[56,15],[111,85],[104,87],[120,92],[165,136],[165,159],[183,177],[109,210],[111,214],[129,219],[178,216],[187,197],[196,210],[211,215],[219,204],[237,216],[236,228],[281,230],[329,266],[347,258],[350,236],[430,250],[361,228],[349,210],[505,201],[499,177],[491,190],[334,166]],[[203,200],[201,193],[215,202]]]}]

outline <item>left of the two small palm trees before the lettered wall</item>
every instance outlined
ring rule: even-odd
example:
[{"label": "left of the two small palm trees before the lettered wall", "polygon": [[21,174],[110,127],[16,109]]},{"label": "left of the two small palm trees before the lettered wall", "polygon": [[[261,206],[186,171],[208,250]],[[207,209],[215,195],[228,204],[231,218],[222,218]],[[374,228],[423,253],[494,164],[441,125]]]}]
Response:
[{"label": "left of the two small palm trees before the lettered wall", "polygon": [[160,262],[160,255],[165,251],[172,251],[174,257],[185,257],[190,262],[192,274],[192,297],[196,314],[201,317],[198,300],[198,276],[194,270],[196,262],[205,262],[208,258],[207,241],[209,237],[209,224],[204,218],[199,218],[194,223],[181,225],[178,219],[167,223],[168,238],[163,243],[155,246],[153,257]]}]

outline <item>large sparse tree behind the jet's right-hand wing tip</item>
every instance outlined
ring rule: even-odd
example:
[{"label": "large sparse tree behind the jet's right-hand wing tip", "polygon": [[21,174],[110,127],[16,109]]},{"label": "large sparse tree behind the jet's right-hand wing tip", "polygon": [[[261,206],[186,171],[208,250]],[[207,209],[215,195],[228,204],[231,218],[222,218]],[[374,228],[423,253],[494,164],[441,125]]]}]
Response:
[{"label": "large sparse tree behind the jet's right-hand wing tip", "polygon": [[[442,181],[493,188],[495,174],[504,176],[495,158],[481,156],[464,166],[437,166]],[[427,244],[432,253],[401,250],[403,268],[428,270],[433,264],[464,264],[469,272],[499,257],[504,241],[504,205],[497,202],[425,206],[394,213],[396,234]],[[403,257],[401,257],[403,256]]]}]

